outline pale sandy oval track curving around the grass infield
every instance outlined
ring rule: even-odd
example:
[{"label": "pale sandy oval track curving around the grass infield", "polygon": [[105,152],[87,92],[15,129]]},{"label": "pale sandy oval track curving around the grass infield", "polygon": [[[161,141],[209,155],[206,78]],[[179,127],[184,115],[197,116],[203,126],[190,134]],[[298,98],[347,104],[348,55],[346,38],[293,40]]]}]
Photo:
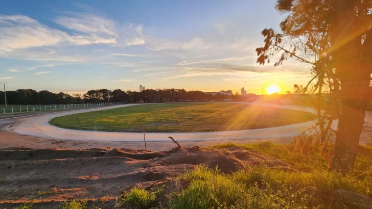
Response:
[{"label": "pale sandy oval track curving around the grass infield", "polygon": [[[264,107],[284,108],[291,110],[300,110],[316,114],[312,108],[304,108],[299,106],[281,106],[268,103],[248,103],[247,105],[259,105]],[[18,134],[32,137],[40,137],[53,140],[78,140],[78,141],[111,141],[111,142],[139,142],[143,141],[142,133],[117,133],[117,132],[96,132],[87,130],[72,130],[55,127],[49,124],[49,121],[55,117],[71,115],[76,113],[86,113],[98,110],[108,110],[112,108],[128,107],[128,104],[111,107],[102,107],[96,109],[76,110],[69,112],[50,113],[45,115],[36,115],[17,119],[9,122],[10,124],[4,127],[5,130]],[[0,120],[1,122],[11,121],[12,119]],[[372,114],[366,114],[366,122],[372,122]],[[337,127],[338,121],[334,121],[333,126]],[[303,130],[315,125],[315,121],[309,121],[293,125],[285,125],[272,128],[252,129],[252,130],[237,130],[229,132],[204,132],[204,133],[146,133],[146,140],[152,142],[169,141],[168,137],[172,136],[177,141],[216,141],[216,140],[249,140],[249,139],[275,139],[283,137],[293,137]],[[361,144],[366,143],[368,138],[361,137]]]}]

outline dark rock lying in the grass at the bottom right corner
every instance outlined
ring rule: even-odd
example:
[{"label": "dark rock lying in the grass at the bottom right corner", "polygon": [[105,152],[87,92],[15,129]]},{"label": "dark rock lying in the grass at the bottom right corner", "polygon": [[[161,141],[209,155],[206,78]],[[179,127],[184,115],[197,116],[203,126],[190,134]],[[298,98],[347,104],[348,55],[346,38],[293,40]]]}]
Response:
[{"label": "dark rock lying in the grass at the bottom right corner", "polygon": [[338,200],[347,205],[352,204],[361,208],[372,208],[372,199],[366,195],[343,189],[335,190],[334,194],[338,197]]}]

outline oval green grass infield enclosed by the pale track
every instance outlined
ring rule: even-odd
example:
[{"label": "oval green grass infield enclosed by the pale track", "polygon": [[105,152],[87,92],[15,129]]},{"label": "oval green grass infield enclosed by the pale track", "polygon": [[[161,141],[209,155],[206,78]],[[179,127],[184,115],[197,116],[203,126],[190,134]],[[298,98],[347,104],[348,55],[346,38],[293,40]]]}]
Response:
[{"label": "oval green grass infield enclosed by the pale track", "polygon": [[302,111],[240,103],[168,103],[139,105],[54,118],[52,125],[109,132],[213,132],[301,123],[316,116]]}]

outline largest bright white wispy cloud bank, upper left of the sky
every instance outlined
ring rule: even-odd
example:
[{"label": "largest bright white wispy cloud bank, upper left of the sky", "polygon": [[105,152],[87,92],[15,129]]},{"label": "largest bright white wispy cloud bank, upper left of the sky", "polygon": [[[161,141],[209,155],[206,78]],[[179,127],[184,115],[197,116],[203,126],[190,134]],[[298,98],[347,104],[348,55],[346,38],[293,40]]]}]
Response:
[{"label": "largest bright white wispy cloud bank, upper left of the sky", "polygon": [[[23,15],[0,16],[0,50],[12,51],[14,49],[37,46],[55,46],[60,43],[86,45],[86,44],[112,44],[116,42],[117,34],[113,23],[94,15],[79,17],[59,17],[56,22],[80,34],[68,33],[47,27],[38,21]],[[90,21],[88,21],[88,19]],[[103,36],[103,35],[104,36]]]}]

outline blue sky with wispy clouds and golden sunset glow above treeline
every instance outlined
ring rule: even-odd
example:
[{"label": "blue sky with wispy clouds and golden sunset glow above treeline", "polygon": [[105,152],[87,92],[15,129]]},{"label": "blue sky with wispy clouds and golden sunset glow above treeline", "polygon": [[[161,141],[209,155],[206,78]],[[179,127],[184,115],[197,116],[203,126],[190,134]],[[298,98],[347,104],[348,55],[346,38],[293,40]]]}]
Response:
[{"label": "blue sky with wispy clouds and golden sunset glow above treeline", "polygon": [[[285,18],[265,1],[2,1],[0,81],[8,90],[146,88],[261,94],[305,85],[309,68],[256,63],[261,31]],[[266,93],[266,92],[264,92]]]}]

